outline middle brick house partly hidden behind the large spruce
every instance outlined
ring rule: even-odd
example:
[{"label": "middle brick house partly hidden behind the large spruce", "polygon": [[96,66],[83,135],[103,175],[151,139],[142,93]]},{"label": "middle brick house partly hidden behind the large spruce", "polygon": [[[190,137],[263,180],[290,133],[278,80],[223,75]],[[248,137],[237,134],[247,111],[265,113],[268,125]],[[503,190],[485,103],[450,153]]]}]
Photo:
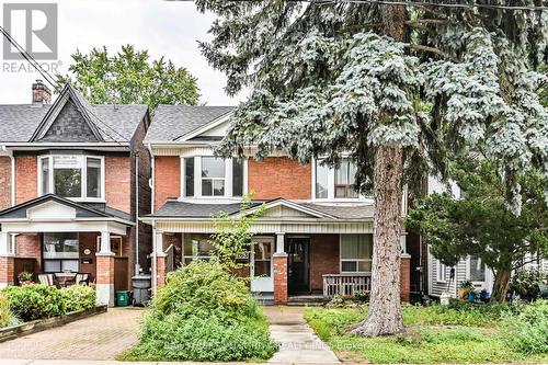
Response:
[{"label": "middle brick house partly hidden behind the large spruce", "polygon": [[[152,167],[150,215],[152,285],[195,259],[207,259],[212,217],[219,210],[238,218],[266,212],[252,226],[251,289],[276,304],[352,294],[370,287],[373,198],[354,189],[355,167],[344,158],[338,169],[321,161],[300,164],[279,153],[258,161],[220,159],[213,146],[227,132],[232,107],[160,105],[145,138]],[[242,196],[253,192],[241,212]],[[403,199],[402,215],[407,210]],[[411,255],[401,236],[401,298],[408,301]],[[411,240],[413,246],[419,240]],[[414,248],[413,248],[414,250]],[[419,250],[415,250],[419,252]],[[419,253],[418,253],[419,255]],[[414,270],[413,270],[414,272]]]}]

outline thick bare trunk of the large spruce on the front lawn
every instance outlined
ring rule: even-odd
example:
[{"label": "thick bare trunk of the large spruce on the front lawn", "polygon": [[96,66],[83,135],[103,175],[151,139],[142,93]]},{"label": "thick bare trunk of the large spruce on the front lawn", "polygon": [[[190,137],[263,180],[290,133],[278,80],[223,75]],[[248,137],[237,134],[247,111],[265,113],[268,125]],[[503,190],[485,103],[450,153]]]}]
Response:
[{"label": "thick bare trunk of the large spruce on the front lawn", "polygon": [[375,163],[375,226],[369,313],[353,333],[364,337],[401,332],[400,229],[402,149],[379,147]]}]

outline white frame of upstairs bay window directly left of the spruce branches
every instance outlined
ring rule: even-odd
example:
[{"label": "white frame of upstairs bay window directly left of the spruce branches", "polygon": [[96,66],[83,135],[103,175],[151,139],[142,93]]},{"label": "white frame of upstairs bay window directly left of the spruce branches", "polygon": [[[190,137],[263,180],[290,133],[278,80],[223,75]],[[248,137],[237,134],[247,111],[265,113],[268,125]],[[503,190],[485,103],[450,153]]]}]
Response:
[{"label": "white frame of upstairs bay window directly left of the spruce branches", "polygon": [[[204,157],[214,157],[212,155],[202,155],[202,156],[180,156],[180,199],[193,199],[193,198],[203,198],[203,199],[218,199],[218,198],[235,198],[241,199],[243,195],[248,193],[248,159],[243,159],[243,189],[242,195],[232,195],[232,158],[227,158],[225,160],[225,178],[202,178],[202,159]],[[185,181],[186,181],[186,171],[184,168],[185,159],[194,158],[194,196],[185,196]],[[202,180],[210,179],[210,180],[224,180],[225,181],[225,195],[203,195],[202,194]]]}]

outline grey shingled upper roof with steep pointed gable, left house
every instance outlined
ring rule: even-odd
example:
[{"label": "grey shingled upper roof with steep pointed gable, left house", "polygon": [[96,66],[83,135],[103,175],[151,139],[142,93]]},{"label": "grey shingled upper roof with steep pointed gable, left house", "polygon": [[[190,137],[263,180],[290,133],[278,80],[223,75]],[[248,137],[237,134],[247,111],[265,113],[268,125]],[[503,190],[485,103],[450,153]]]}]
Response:
[{"label": "grey shingled upper roof with steep pointed gable, left house", "polygon": [[100,141],[130,141],[148,111],[147,105],[138,104],[90,104],[67,84],[52,105],[0,105],[0,142],[39,141],[69,101]]}]

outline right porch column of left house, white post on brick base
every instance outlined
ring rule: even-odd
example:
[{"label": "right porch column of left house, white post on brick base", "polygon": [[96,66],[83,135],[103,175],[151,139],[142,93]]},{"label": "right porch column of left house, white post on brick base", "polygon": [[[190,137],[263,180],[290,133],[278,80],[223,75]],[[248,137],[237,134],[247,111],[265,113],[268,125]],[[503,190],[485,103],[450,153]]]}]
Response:
[{"label": "right porch column of left house, white post on brick base", "polygon": [[101,232],[101,249],[95,258],[98,303],[114,307],[114,253],[110,231]]}]

